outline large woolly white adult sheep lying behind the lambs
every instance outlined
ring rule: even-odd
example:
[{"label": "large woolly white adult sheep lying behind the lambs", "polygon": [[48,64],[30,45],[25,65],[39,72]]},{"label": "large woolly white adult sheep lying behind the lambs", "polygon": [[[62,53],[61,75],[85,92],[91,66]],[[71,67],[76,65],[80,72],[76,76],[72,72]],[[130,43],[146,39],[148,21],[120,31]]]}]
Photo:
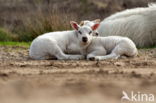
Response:
[{"label": "large woolly white adult sheep lying behind the lambs", "polygon": [[[84,21],[92,26],[95,22]],[[156,4],[148,7],[128,9],[104,19],[97,29],[99,36],[125,36],[137,47],[156,45]]]}]

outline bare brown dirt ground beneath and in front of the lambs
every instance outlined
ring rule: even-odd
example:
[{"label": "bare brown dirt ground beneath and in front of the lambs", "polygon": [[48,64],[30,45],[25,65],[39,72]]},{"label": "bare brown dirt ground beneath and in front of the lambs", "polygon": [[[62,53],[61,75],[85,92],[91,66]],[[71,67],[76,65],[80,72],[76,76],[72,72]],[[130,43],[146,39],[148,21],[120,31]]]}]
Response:
[{"label": "bare brown dirt ground beneath and in front of the lambs", "polygon": [[30,60],[28,48],[0,47],[0,103],[122,103],[122,91],[156,96],[156,49],[97,62]]}]

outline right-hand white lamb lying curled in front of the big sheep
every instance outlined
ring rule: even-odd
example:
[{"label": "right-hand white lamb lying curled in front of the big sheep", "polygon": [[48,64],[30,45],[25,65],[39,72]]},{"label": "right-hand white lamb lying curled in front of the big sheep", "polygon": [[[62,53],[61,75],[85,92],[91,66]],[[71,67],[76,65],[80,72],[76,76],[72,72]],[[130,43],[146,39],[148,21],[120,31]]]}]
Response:
[{"label": "right-hand white lamb lying curled in front of the big sheep", "polygon": [[[99,26],[99,24],[95,25],[91,27],[89,25],[88,31],[89,32],[92,31],[93,33]],[[133,41],[127,37],[88,36],[88,41],[86,45],[81,46],[81,53],[82,55],[87,55],[88,60],[104,60],[104,59],[117,59],[123,55],[128,57],[134,57],[138,54],[138,51]]]}]

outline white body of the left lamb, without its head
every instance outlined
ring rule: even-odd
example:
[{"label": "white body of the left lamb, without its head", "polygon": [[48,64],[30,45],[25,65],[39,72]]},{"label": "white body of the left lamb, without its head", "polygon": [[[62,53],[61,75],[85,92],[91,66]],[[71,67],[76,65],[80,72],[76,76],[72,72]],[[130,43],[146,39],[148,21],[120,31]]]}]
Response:
[{"label": "white body of the left lamb, without its head", "polygon": [[33,40],[29,56],[32,59],[82,59],[75,31],[50,32]]}]

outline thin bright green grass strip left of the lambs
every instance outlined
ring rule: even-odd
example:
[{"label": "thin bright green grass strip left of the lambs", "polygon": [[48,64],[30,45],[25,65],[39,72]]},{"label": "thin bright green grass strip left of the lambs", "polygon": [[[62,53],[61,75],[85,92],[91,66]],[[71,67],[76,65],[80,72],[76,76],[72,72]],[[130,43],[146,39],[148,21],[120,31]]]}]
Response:
[{"label": "thin bright green grass strip left of the lambs", "polygon": [[31,42],[12,42],[12,41],[0,41],[0,46],[21,46],[21,47],[29,47]]}]

